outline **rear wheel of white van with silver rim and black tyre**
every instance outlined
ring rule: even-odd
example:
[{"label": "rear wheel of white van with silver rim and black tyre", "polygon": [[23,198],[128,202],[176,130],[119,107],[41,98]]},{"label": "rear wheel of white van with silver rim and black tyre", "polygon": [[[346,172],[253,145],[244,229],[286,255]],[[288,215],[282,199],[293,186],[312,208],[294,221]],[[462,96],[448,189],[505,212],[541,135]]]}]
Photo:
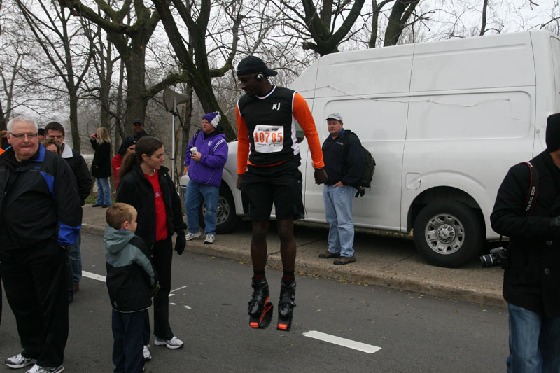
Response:
[{"label": "rear wheel of white van with silver rim and black tyre", "polygon": [[475,211],[461,202],[428,204],[414,221],[414,244],[430,264],[460,267],[482,248],[482,224]]}]

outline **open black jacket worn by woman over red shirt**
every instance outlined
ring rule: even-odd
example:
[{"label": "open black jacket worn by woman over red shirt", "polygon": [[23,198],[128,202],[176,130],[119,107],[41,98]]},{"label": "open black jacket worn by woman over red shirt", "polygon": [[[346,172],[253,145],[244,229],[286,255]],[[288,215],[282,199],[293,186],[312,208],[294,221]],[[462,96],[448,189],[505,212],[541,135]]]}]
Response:
[{"label": "open black jacket worn by woman over red shirt", "polygon": [[[183,221],[183,206],[181,199],[175,189],[175,185],[169,176],[169,169],[161,167],[158,172],[160,188],[167,213],[167,231],[169,235],[173,232],[183,232],[187,225]],[[148,247],[155,244],[155,197],[152,184],[139,165],[134,164],[132,170],[123,177],[118,184],[117,202],[124,202],[134,206],[138,211],[137,236],[146,241]],[[184,234],[184,233],[183,233]]]}]

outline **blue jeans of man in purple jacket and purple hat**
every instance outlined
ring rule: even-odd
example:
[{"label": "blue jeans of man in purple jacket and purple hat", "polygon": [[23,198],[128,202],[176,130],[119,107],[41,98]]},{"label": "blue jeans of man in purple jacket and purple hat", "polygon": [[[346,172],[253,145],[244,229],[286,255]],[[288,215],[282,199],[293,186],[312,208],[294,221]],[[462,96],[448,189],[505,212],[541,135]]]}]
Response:
[{"label": "blue jeans of man in purple jacket and purple hat", "polygon": [[204,233],[216,234],[216,218],[218,217],[218,197],[220,188],[213,185],[205,185],[196,181],[189,181],[187,185],[187,197],[185,199],[185,210],[187,211],[187,226],[190,233],[199,230],[198,207],[204,199],[206,214],[204,215]]}]

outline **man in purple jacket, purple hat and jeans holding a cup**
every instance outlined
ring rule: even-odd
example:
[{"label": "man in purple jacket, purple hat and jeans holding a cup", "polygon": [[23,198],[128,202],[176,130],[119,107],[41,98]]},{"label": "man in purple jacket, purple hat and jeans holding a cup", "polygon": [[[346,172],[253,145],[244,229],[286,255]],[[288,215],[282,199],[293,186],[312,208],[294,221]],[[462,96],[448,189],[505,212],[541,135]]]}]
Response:
[{"label": "man in purple jacket, purple hat and jeans holding a cup", "polygon": [[223,167],[228,160],[228,143],[223,128],[218,125],[218,111],[202,117],[202,132],[197,131],[190,140],[185,155],[185,167],[190,181],[187,185],[185,210],[187,211],[187,241],[201,236],[198,225],[198,208],[202,199],[206,204],[204,215],[204,244],[216,241],[218,195],[222,183]]}]

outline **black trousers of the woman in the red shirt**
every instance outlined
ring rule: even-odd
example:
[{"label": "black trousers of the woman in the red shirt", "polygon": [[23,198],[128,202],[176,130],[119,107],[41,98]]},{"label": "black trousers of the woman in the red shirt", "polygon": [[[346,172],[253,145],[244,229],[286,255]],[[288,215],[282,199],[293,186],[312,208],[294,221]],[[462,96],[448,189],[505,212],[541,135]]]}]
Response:
[{"label": "black trousers of the woman in the red shirt", "polygon": [[[171,265],[173,246],[171,235],[162,241],[156,241],[152,247],[152,262],[158,274],[160,290],[153,300],[153,335],[161,339],[172,339],[173,332],[169,326],[169,293],[171,292]],[[150,343],[150,316],[146,312],[144,319],[144,344]]]}]

